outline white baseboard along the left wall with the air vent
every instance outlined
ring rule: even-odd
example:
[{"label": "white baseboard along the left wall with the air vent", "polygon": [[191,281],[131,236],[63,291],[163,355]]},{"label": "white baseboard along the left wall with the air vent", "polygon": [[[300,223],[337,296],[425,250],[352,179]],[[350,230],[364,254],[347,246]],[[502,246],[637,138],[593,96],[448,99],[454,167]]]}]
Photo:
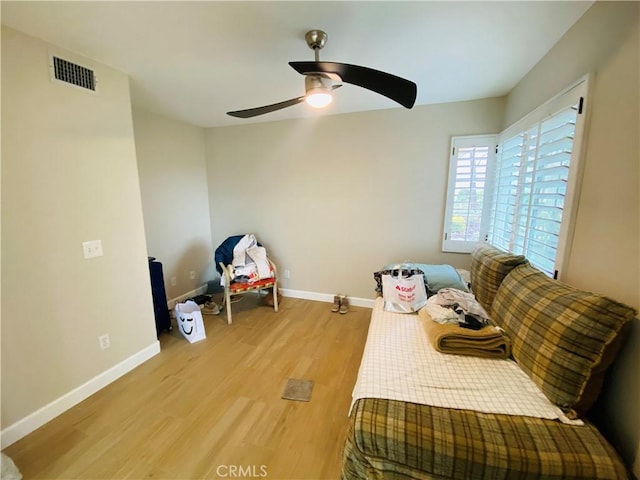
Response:
[{"label": "white baseboard along the left wall with the air vent", "polygon": [[84,399],[90,397],[98,390],[106,387],[114,380],[118,379],[125,373],[130,372],[138,365],[143,364],[158,353],[160,353],[160,342],[156,341],[148,347],[140,350],[138,353],[133,354],[126,360],[123,360],[117,365],[114,365],[110,369],[92,378],[83,385],[74,388],[69,393],[64,394],[48,405],[45,405],[32,414],[18,420],[13,425],[9,425],[0,432],[1,448],[4,449],[21,438],[26,437],[37,428],[40,428],[45,423],[53,420],[61,413],[69,410],[74,405],[77,405]]}]

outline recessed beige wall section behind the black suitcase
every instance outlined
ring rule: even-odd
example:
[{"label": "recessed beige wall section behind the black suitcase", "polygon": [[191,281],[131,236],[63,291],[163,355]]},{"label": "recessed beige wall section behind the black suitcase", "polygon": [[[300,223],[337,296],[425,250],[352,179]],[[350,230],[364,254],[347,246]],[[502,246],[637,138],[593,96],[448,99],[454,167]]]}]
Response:
[{"label": "recessed beige wall section behind the black suitcase", "polygon": [[213,277],[204,130],[139,109],[133,126],[147,250],[176,298]]}]

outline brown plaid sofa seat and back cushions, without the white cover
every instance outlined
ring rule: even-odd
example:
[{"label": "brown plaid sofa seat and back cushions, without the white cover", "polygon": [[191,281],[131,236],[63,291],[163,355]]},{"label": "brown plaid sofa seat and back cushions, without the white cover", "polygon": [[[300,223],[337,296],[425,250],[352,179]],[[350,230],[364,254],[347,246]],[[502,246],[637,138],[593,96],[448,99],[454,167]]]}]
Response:
[{"label": "brown plaid sofa seat and back cushions, without the white cover", "polygon": [[584,415],[637,312],[552,280],[522,256],[472,254],[471,288],[512,342],[518,366],[583,425],[360,398],[350,414],[342,478],[621,479],[614,448]]}]

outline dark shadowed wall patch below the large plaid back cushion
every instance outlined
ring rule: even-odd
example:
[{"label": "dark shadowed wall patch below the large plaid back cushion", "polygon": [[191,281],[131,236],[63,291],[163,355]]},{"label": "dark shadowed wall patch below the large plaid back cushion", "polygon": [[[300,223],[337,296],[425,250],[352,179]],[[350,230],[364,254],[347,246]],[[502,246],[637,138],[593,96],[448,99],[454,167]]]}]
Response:
[{"label": "dark shadowed wall patch below the large plaid back cushion", "polygon": [[[640,464],[640,429],[637,428],[640,425],[638,365],[640,319],[635,318],[624,346],[606,374],[600,398],[589,413],[590,419],[613,444],[629,469],[638,468],[637,465]],[[606,412],[617,412],[617,415],[611,418],[606,416]]]}]

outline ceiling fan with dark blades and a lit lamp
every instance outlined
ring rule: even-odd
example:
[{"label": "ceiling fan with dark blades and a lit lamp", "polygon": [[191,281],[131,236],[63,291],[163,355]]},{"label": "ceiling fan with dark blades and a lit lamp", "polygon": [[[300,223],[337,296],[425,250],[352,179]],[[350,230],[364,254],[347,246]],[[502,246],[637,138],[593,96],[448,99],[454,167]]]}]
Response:
[{"label": "ceiling fan with dark blades and a lit lamp", "polygon": [[405,108],[413,107],[417,94],[415,83],[390,73],[359,65],[321,62],[319,52],[327,42],[327,34],[322,30],[310,30],[304,38],[309,48],[315,53],[315,61],[289,62],[289,65],[305,76],[305,95],[263,107],[227,112],[227,115],[238,118],[251,118],[305,101],[312,107],[322,108],[331,103],[333,91],[341,87],[342,82],[357,85],[384,95]]}]

